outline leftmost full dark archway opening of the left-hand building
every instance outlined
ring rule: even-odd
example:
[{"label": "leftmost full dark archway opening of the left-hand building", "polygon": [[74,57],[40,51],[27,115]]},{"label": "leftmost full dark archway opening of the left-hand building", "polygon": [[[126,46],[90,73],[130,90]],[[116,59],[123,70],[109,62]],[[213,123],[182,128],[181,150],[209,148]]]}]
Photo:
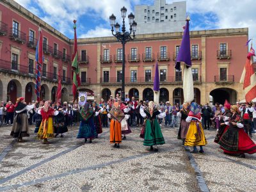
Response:
[{"label": "leftmost full dark archway opening of the left-hand building", "polygon": [[7,85],[7,100],[15,103],[17,97],[22,97],[22,86],[17,79],[12,79]]}]

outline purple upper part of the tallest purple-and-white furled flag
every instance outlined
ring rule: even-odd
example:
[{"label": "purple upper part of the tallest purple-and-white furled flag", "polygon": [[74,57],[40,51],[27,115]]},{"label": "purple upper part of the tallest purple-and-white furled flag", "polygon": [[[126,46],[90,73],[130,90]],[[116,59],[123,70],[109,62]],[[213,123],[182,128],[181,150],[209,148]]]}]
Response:
[{"label": "purple upper part of the tallest purple-and-white furled flag", "polygon": [[189,19],[187,19],[186,28],[182,37],[180,51],[176,59],[175,68],[180,70],[180,62],[184,62],[187,67],[191,67],[190,40],[189,40]]}]

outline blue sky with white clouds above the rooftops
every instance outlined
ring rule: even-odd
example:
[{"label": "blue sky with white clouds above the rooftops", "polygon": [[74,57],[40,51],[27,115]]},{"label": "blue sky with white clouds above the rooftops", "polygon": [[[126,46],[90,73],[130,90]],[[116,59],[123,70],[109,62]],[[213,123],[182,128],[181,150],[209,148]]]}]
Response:
[{"label": "blue sky with white clouds above the rooftops", "polygon": [[[109,15],[121,21],[120,8],[134,13],[134,5],[153,5],[154,0],[15,0],[68,38],[74,38],[73,20],[77,20],[77,38],[112,36]],[[179,0],[166,0],[172,3]],[[187,0],[190,30],[249,28],[248,38],[256,43],[255,0]],[[136,20],[136,17],[135,17]]]}]

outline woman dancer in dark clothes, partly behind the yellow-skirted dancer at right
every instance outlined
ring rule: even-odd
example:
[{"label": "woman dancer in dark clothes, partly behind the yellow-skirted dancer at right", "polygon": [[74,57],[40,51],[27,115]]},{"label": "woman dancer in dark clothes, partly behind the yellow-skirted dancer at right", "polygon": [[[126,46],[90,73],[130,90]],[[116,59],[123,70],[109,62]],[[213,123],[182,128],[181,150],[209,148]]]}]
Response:
[{"label": "woman dancer in dark clothes, partly behind the yellow-skirted dancer at right", "polygon": [[186,122],[186,118],[189,114],[189,104],[185,102],[183,108],[177,113],[177,116],[180,118],[180,128],[178,133],[178,140],[182,140],[182,145],[185,143],[185,139],[188,132],[189,122]]}]

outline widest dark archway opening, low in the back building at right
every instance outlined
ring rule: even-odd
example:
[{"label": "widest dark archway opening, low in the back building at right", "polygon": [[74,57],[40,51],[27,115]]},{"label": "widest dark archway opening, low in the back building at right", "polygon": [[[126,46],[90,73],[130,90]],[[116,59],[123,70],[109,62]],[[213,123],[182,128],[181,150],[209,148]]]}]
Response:
[{"label": "widest dark archway opening, low in the back building at right", "polygon": [[212,96],[212,104],[218,102],[219,104],[224,104],[227,99],[231,104],[236,104],[237,92],[232,88],[216,88],[210,92]]}]

